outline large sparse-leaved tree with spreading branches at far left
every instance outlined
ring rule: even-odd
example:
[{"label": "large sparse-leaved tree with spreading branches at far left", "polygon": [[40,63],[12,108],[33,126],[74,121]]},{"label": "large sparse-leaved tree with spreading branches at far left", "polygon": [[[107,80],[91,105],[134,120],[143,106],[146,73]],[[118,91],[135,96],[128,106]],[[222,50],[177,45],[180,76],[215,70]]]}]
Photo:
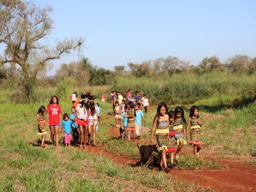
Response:
[{"label": "large sparse-leaved tree with spreading branches at far left", "polygon": [[70,54],[73,50],[80,51],[83,38],[66,38],[56,41],[50,47],[45,38],[53,29],[50,18],[52,8],[40,8],[34,3],[21,0],[0,0],[0,46],[5,52],[0,56],[0,63],[18,65],[21,69],[24,98],[31,101],[33,88],[38,73],[49,70],[50,61]]}]

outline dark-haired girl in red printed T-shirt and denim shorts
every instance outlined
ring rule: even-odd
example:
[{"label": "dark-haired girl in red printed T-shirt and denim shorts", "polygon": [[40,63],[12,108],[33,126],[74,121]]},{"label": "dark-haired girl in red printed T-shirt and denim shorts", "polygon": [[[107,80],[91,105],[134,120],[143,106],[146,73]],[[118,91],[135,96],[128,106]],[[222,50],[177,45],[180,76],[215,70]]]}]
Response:
[{"label": "dark-haired girl in red printed T-shirt and denim shorts", "polygon": [[50,103],[46,109],[46,117],[47,122],[51,130],[51,140],[52,145],[54,145],[54,135],[56,139],[56,147],[59,145],[59,128],[60,128],[60,114],[61,114],[61,107],[59,105],[59,100],[56,95],[52,96]]}]

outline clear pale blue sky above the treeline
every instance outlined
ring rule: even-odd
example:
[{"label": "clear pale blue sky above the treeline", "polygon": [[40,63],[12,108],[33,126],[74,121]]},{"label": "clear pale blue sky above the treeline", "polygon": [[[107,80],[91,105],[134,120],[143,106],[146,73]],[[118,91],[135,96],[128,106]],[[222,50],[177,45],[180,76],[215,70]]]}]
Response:
[{"label": "clear pale blue sky above the treeline", "polygon": [[[222,62],[256,57],[256,0],[35,0],[54,8],[49,39],[85,38],[83,54],[109,70],[176,56],[198,65],[216,55]],[[71,55],[54,62],[54,75]]]}]

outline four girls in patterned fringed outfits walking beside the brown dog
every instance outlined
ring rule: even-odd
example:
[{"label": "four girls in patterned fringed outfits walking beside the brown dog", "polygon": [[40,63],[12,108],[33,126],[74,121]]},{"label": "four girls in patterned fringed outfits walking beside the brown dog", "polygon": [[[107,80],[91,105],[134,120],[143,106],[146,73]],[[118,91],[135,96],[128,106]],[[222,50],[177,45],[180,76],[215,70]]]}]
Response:
[{"label": "four girls in patterned fringed outfits walking beside the brown dog", "polygon": [[[180,152],[186,140],[184,135],[188,138],[189,126],[190,131],[190,145],[194,145],[194,155],[199,156],[199,151],[203,145],[200,127],[202,122],[198,116],[199,109],[197,106],[192,106],[188,118],[188,123],[184,117],[184,110],[182,107],[177,106],[174,111],[168,111],[168,108],[164,102],[158,105],[157,113],[154,118],[150,144],[153,142],[153,135],[156,134],[156,140],[158,143],[158,150],[160,152],[160,170],[169,172],[174,169],[174,160],[179,159]],[[186,126],[186,132],[185,128]],[[178,146],[177,149],[175,146]],[[170,167],[167,166],[166,155],[170,153]]]}]

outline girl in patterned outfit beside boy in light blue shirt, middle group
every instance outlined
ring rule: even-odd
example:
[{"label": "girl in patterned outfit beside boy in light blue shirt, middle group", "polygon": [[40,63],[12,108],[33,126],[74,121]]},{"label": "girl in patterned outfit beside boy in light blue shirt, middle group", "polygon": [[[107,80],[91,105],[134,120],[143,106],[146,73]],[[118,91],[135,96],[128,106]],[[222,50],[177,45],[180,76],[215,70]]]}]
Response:
[{"label": "girl in patterned outfit beside boy in light blue shirt, middle group", "polygon": [[128,110],[126,111],[125,118],[128,118],[127,120],[127,135],[128,135],[128,141],[130,141],[130,132],[132,132],[132,139],[133,142],[135,142],[135,120],[134,117],[136,117],[135,111],[134,111],[134,103],[132,101],[128,102]]}]

